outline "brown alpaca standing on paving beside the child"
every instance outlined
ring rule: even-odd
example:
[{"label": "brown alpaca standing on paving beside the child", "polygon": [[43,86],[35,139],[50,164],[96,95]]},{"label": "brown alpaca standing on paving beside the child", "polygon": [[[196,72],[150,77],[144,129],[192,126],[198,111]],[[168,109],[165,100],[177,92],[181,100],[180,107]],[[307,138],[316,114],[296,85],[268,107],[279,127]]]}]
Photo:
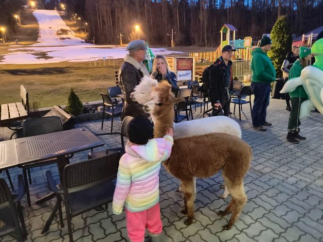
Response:
[{"label": "brown alpaca standing on paving beside the child", "polygon": [[[145,104],[145,110],[156,117],[155,138],[165,135],[167,129],[173,125],[174,107],[169,103],[175,100],[170,98],[173,95],[169,95],[171,87],[167,86],[162,83],[156,87],[152,95],[153,100]],[[169,91],[166,91],[166,87]],[[194,218],[194,177],[205,178],[222,170],[232,200],[225,210],[219,211],[218,214],[224,216],[232,213],[229,223],[223,226],[223,229],[230,229],[247,202],[243,178],[249,170],[251,159],[250,146],[233,135],[210,133],[176,139],[172,154],[163,165],[169,173],[179,178],[183,186],[184,209],[181,212],[187,214],[185,225],[192,224]]]}]

